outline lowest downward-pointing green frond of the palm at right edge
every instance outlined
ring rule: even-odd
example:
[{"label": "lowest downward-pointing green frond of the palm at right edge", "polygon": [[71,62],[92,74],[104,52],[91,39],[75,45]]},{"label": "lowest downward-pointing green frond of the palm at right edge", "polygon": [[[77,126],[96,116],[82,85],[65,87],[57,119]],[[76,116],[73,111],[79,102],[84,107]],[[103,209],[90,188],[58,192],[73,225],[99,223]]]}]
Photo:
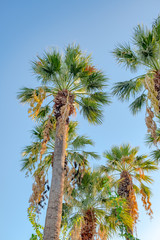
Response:
[{"label": "lowest downward-pointing green frond of the palm at right edge", "polygon": [[147,100],[146,94],[142,93],[139,97],[137,97],[130,105],[129,108],[133,115],[137,114],[142,110],[145,106]]}]

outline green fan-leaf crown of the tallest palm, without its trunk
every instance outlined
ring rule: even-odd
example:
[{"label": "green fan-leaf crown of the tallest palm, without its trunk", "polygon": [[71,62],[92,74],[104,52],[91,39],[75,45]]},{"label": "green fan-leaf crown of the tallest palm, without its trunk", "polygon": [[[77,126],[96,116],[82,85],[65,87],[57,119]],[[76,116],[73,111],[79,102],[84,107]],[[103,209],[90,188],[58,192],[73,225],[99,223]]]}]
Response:
[{"label": "green fan-leaf crown of the tallest palm, without its trunk", "polygon": [[[110,103],[105,91],[107,78],[79,45],[68,45],[64,54],[55,49],[44,52],[32,62],[32,68],[41,85],[35,89],[24,87],[18,93],[21,103],[30,104],[32,117],[37,119],[44,111],[49,113],[57,94],[65,91],[73,96],[75,108],[80,108],[89,122],[102,122],[102,106]],[[47,104],[42,107],[46,99]]]}]

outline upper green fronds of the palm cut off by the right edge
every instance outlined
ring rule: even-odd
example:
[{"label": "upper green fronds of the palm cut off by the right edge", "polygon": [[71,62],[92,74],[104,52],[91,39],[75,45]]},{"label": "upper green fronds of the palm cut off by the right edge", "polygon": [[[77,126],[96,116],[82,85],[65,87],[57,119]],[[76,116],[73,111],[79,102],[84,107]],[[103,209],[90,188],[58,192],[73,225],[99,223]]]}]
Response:
[{"label": "upper green fronds of the palm cut off by the right edge", "polygon": [[137,71],[139,66],[145,66],[149,71],[160,69],[160,17],[148,29],[144,25],[137,25],[133,29],[129,43],[118,44],[113,54],[119,64],[123,64],[131,71]]}]

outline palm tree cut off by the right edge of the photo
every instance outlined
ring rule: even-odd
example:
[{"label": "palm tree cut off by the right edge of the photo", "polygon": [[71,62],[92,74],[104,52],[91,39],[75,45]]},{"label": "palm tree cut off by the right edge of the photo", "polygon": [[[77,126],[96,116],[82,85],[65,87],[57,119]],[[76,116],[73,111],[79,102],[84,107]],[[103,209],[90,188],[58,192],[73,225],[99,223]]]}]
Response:
[{"label": "palm tree cut off by the right edge of the photo", "polygon": [[156,123],[153,118],[160,112],[160,17],[151,30],[143,25],[134,28],[132,43],[133,46],[119,44],[113,54],[119,64],[131,71],[142,67],[145,72],[129,81],[117,82],[113,94],[122,101],[133,97],[135,100],[129,106],[133,114],[146,105],[146,125],[155,138]]}]

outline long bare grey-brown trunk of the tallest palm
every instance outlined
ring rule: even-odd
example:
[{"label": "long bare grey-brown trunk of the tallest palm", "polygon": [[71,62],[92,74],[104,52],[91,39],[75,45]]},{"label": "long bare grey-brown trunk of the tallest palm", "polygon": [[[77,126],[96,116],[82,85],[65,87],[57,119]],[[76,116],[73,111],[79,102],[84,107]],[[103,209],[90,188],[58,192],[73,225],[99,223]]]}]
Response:
[{"label": "long bare grey-brown trunk of the tallest palm", "polygon": [[56,127],[52,182],[49,194],[49,202],[45,220],[43,240],[59,240],[64,189],[65,147],[68,131],[67,124],[66,123],[64,124],[65,124],[63,130],[64,132],[61,138],[59,138],[60,125],[58,122]]}]

